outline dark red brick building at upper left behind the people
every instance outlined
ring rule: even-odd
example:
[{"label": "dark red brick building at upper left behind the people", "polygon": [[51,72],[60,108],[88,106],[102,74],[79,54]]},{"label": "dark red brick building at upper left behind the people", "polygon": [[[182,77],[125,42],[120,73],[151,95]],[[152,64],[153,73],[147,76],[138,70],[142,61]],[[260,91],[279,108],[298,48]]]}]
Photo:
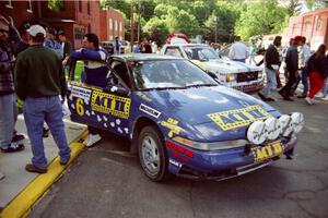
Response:
[{"label": "dark red brick building at upper left behind the people", "polygon": [[125,38],[122,14],[101,10],[99,1],[61,1],[58,11],[50,10],[48,1],[0,1],[0,11],[12,16],[16,26],[28,21],[63,31],[75,48],[81,47],[85,33],[95,33],[101,40]]}]

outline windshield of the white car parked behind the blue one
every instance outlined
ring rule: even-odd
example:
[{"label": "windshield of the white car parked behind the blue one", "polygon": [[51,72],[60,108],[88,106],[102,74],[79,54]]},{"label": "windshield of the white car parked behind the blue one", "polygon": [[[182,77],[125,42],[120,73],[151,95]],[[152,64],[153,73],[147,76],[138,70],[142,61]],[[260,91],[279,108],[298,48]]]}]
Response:
[{"label": "windshield of the white car parked behind the blue one", "polygon": [[206,61],[210,59],[219,59],[219,55],[210,47],[184,47],[189,59]]}]

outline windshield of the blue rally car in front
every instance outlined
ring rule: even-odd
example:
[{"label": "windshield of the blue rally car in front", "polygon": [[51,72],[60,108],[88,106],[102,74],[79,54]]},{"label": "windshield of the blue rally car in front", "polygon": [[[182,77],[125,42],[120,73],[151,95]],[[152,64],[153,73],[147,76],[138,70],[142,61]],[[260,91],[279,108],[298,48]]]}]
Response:
[{"label": "windshield of the blue rally car in front", "polygon": [[187,60],[130,61],[128,64],[138,89],[218,85],[204,71]]}]

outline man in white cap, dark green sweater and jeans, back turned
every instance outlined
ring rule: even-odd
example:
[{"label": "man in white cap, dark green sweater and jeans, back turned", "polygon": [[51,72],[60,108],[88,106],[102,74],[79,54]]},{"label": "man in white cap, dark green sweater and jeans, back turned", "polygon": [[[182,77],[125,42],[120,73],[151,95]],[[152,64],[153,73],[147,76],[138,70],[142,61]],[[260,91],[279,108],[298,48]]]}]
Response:
[{"label": "man in white cap, dark green sweater and jeans, back turned", "polygon": [[[30,27],[31,48],[17,56],[15,64],[15,87],[24,102],[24,118],[33,153],[30,172],[47,172],[47,159],[43,143],[44,122],[48,124],[59,148],[60,165],[70,159],[62,121],[61,104],[66,95],[66,78],[61,60],[56,52],[45,48],[46,31],[39,25]],[[45,64],[46,63],[46,64]],[[60,102],[59,95],[62,97]]]}]

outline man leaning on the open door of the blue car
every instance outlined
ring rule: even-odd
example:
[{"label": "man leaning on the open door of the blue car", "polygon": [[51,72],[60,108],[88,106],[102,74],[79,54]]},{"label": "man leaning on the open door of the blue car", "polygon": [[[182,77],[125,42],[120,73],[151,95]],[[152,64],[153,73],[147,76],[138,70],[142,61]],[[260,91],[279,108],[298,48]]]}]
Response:
[{"label": "man leaning on the open door of the blue car", "polygon": [[[91,60],[99,60],[106,61],[108,58],[108,53],[105,49],[99,47],[99,39],[95,34],[86,34],[83,38],[83,48],[73,51],[71,53],[71,60],[77,59],[91,59]],[[94,85],[98,87],[106,86],[106,76],[107,76],[107,68],[102,64],[97,64],[97,68],[94,65],[90,68],[93,61],[85,61],[84,62],[84,73],[85,73],[85,84]],[[99,130],[93,126],[87,126],[89,135],[83,144],[86,147],[91,147],[95,145],[95,143],[102,140],[99,135]]]}]

